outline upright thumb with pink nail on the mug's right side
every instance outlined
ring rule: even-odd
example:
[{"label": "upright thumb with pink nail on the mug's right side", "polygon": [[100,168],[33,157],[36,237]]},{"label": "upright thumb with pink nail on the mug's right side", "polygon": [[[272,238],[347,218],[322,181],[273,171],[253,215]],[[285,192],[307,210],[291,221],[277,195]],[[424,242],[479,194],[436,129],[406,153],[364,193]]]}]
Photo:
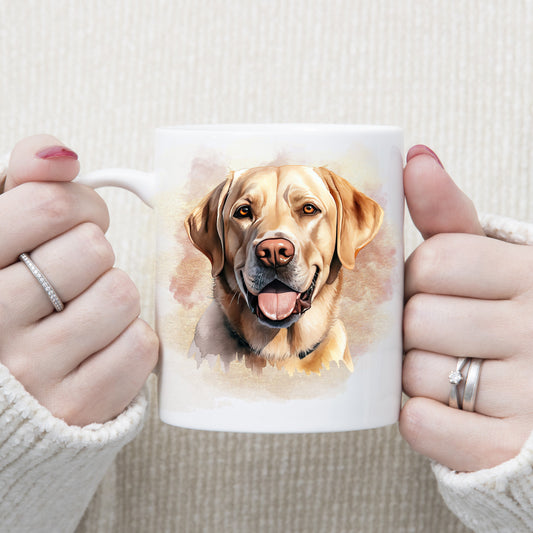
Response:
[{"label": "upright thumb with pink nail on the mug's right side", "polygon": [[424,239],[437,233],[484,235],[472,200],[457,187],[427,146],[407,153],[403,183],[407,207]]}]

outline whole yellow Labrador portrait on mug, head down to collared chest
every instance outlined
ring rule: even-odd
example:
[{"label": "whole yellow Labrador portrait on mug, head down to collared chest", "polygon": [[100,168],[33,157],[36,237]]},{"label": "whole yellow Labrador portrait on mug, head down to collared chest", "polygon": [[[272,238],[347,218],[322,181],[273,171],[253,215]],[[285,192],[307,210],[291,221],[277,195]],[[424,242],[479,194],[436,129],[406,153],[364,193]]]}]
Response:
[{"label": "whole yellow Labrador portrait on mug, head down to collared chest", "polygon": [[286,165],[231,172],[187,217],[207,256],[214,302],[196,327],[191,353],[244,357],[320,373],[331,361],[353,369],[337,318],[341,267],[352,269],[376,235],[381,207],[321,167]]}]

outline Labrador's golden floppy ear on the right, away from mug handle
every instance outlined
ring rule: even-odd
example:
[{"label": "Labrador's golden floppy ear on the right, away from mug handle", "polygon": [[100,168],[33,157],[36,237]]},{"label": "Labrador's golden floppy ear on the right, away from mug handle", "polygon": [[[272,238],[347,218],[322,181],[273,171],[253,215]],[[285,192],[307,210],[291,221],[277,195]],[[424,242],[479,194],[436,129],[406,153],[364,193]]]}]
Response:
[{"label": "Labrador's golden floppy ear on the right, away from mug handle", "polygon": [[345,268],[355,266],[355,257],[378,232],[383,210],[377,202],[359,192],[331,170],[315,168],[337,205],[337,256]]}]

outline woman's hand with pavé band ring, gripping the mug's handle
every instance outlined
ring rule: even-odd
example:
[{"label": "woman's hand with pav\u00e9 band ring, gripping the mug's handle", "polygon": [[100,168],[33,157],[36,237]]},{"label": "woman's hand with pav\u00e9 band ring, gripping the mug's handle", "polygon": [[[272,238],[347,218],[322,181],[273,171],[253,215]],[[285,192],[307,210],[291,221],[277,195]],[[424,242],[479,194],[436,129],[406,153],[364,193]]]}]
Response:
[{"label": "woman's hand with pav\u00e9 band ring, gripping the mug's handle", "polygon": [[[53,415],[105,422],[133,400],[157,362],[158,339],[138,318],[138,291],[113,268],[107,207],[74,152],[38,135],[14,148],[0,195],[0,362]],[[54,148],[55,147],[55,148]],[[56,312],[26,252],[55,288]]]}]

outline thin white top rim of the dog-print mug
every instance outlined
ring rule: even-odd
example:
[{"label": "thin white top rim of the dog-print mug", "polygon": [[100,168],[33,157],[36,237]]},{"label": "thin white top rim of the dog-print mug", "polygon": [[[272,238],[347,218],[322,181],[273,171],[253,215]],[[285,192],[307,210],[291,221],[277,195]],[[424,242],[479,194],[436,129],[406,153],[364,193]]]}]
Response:
[{"label": "thin white top rim of the dog-print mug", "polygon": [[347,123],[328,123],[328,122],[236,122],[236,123],[206,123],[206,124],[176,124],[168,126],[158,126],[156,131],[160,132],[246,132],[253,133],[276,131],[282,132],[371,132],[371,133],[403,133],[400,126],[381,125],[381,124],[347,124]]}]

